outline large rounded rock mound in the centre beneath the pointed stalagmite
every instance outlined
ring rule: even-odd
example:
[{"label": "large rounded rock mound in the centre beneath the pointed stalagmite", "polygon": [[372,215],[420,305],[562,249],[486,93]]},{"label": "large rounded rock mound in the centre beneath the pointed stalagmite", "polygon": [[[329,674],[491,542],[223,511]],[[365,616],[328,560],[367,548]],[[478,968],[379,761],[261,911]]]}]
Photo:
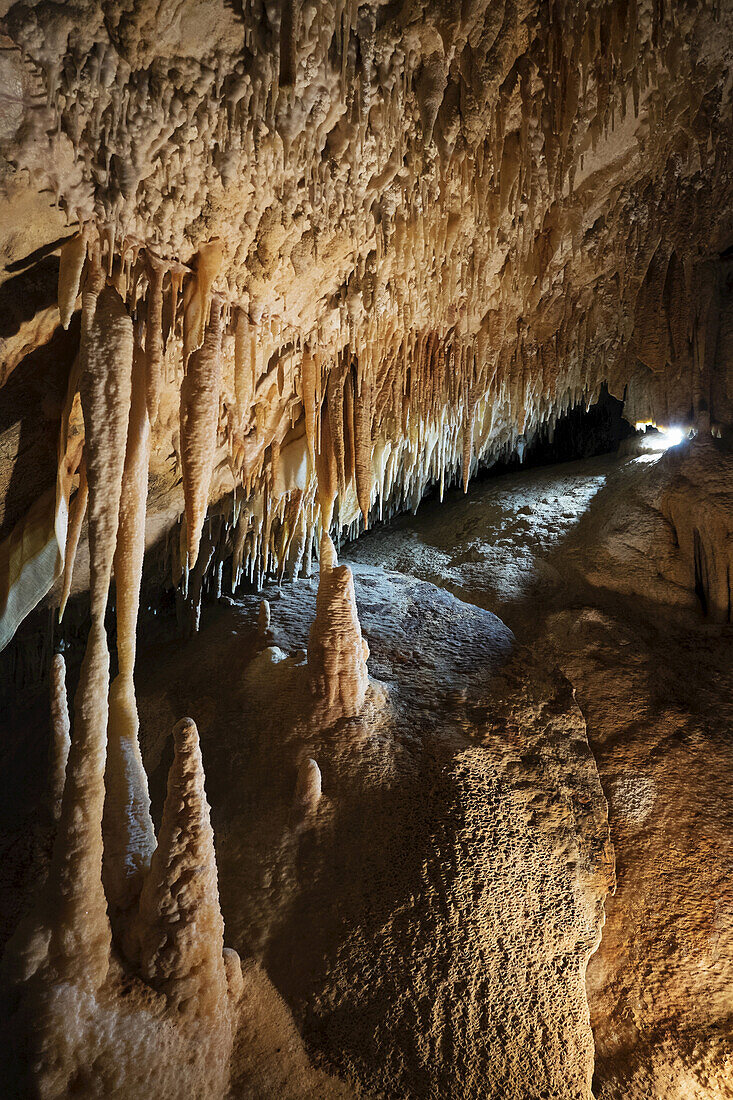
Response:
[{"label": "large rounded rock mound in the centre beneath the pointed stalagmite", "polygon": [[[227,936],[352,1088],[589,1097],[584,971],[613,856],[570,685],[433,585],[363,568],[354,585],[373,678],[357,718],[325,725],[309,701],[313,583],[267,590],[275,645],[254,659],[256,596],[141,679],[144,728],[174,700],[204,715]],[[223,664],[242,670],[226,693]]]}]

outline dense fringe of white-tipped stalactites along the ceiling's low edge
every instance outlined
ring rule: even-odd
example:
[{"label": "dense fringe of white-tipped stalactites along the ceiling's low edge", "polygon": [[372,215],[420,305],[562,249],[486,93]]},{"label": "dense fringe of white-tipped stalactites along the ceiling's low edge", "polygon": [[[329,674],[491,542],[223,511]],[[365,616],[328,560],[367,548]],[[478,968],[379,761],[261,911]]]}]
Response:
[{"label": "dense fringe of white-tipped stalactites along the ceiling's low edge", "polygon": [[[515,361],[490,358],[482,337],[459,350],[435,336],[411,337],[378,363],[365,351],[324,364],[305,350],[300,371],[303,416],[261,452],[254,476],[237,470],[239,486],[204,530],[203,561],[217,594],[228,559],[233,592],[244,579],[259,586],[265,574],[309,575],[322,532],[354,537],[370,516],[415,510],[431,485],[441,496],[459,480],[466,488],[478,465],[522,455],[540,427],[551,431],[600,392],[600,381],[595,392],[573,384],[571,365],[548,376],[544,391],[530,372],[517,381]],[[198,601],[201,571],[185,573],[183,531],[172,549],[174,579],[183,571]]]}]

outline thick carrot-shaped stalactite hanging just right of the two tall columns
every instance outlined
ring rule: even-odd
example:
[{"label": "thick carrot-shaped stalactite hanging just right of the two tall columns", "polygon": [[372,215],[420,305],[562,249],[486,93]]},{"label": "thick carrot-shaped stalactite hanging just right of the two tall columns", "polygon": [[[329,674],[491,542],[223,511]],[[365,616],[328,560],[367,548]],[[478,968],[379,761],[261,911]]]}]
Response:
[{"label": "thick carrot-shaped stalactite hanging just right of the two tall columns", "polygon": [[209,501],[221,389],[221,302],[215,297],[203,345],[188,360],[180,386],[180,462],[186,502],[188,568],[198,557]]}]

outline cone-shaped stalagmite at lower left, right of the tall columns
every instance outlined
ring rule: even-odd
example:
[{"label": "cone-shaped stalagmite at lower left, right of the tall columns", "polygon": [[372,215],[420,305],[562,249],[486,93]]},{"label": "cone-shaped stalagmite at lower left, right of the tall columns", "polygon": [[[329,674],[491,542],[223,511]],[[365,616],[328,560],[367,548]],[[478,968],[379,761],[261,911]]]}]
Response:
[{"label": "cone-shaped stalagmite at lower left, right of the tall columns", "polygon": [[198,730],[173,730],[174,760],[157,848],[140,899],[140,968],[180,1012],[227,1007],[223,921]]}]

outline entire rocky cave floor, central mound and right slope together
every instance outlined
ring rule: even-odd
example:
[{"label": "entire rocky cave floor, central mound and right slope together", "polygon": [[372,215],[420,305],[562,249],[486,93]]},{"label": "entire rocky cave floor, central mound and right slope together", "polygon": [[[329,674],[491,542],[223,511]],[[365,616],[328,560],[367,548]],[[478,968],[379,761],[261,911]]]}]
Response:
[{"label": "entire rocky cave floor, central mound and right slope together", "polygon": [[[338,737],[317,736],[297,717],[317,578],[265,587],[266,640],[282,652],[254,659],[263,645],[254,594],[205,607],[201,632],[188,641],[146,646],[141,638],[141,744],[154,812],[167,735],[190,713],[201,733],[227,941],[255,960],[248,981],[261,1015],[243,1021],[233,1096],[478,1098],[494,1094],[488,1074],[499,1082],[505,1074],[518,1084],[515,1091],[497,1086],[496,1096],[566,1100],[587,1094],[593,1044],[599,1100],[733,1096],[733,629],[689,606],[624,594],[612,573],[605,584],[598,573],[590,583],[582,568],[601,537],[593,517],[623,509],[630,480],[656,461],[600,458],[486,479],[344,546],[375,686],[364,723],[347,723]],[[633,572],[637,553],[630,546],[619,570]],[[511,653],[515,679],[517,668],[526,672],[507,704],[491,685]],[[36,704],[28,718],[34,743],[43,740],[41,713]],[[288,838],[282,822],[304,752],[324,771],[321,825],[291,829]],[[26,813],[34,784],[41,798],[41,777],[19,763],[12,744],[3,756],[10,821],[19,791]],[[583,975],[608,889],[601,788],[616,890]],[[562,846],[560,804],[575,822],[562,825]],[[591,807],[588,822],[579,804]],[[508,854],[489,858],[515,818],[526,827],[515,831]],[[43,849],[43,836],[23,839],[23,828],[3,828],[7,868],[17,868],[3,873],[3,897],[23,895],[32,866],[25,849]],[[581,871],[568,878],[568,866]],[[514,913],[517,883],[523,909]],[[567,915],[560,932],[558,906]],[[506,943],[495,934],[496,914],[510,911],[516,928]],[[461,931],[475,913],[479,930],[489,930],[478,946]],[[536,938],[533,950],[559,960],[541,970],[539,1001],[538,971],[523,969],[527,936]],[[401,975],[413,942],[418,961]],[[385,974],[394,988],[384,988]],[[360,999],[360,985],[379,996]],[[397,1004],[402,986],[405,1005],[375,1018],[374,1004]],[[408,1012],[425,1042],[414,1049],[403,1042],[397,1064],[390,1043]],[[537,1030],[543,1015],[557,1025],[553,1036]],[[516,1031],[514,1044],[502,1037],[505,1024]],[[480,1065],[483,1048],[466,1045],[468,1031],[490,1035],[499,1062]],[[577,1080],[553,1085],[568,1036]],[[517,1042],[519,1050],[550,1049],[541,1072],[535,1066],[522,1077]],[[392,1052],[392,1090],[370,1077],[380,1043]],[[450,1075],[461,1059],[462,1092]],[[344,1088],[333,1070],[361,1090]],[[538,1074],[550,1082],[545,1093],[533,1090]]]}]

